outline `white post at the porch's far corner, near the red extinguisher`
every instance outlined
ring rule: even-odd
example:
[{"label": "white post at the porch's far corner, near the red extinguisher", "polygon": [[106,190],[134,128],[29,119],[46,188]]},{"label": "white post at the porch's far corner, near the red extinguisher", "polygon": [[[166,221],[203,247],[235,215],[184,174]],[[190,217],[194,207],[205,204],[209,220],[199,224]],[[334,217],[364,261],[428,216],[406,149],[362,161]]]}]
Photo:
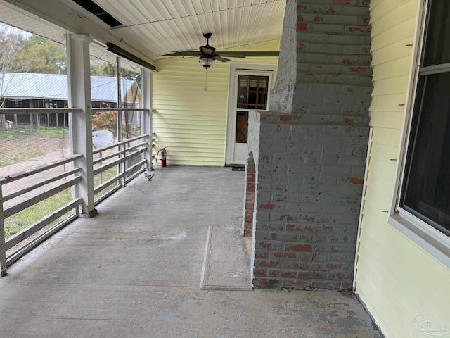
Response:
[{"label": "white post at the porch's far corner, near the red extinguisher", "polygon": [[143,112],[143,119],[141,124],[141,132],[142,134],[148,134],[147,147],[148,151],[144,153],[147,160],[147,168],[151,168],[152,163],[152,144],[153,144],[153,134],[152,134],[152,101],[151,101],[151,85],[152,85],[152,77],[150,70],[146,68],[142,68],[142,108],[148,109]]}]

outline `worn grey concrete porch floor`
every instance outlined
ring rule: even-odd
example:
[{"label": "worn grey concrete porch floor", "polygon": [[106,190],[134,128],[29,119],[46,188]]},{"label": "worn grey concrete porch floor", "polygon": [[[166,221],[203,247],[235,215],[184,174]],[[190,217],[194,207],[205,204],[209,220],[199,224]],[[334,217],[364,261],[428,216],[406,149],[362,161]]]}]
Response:
[{"label": "worn grey concrete porch floor", "polygon": [[382,337],[350,294],[242,291],[243,172],[154,173],[8,268],[0,337]]}]

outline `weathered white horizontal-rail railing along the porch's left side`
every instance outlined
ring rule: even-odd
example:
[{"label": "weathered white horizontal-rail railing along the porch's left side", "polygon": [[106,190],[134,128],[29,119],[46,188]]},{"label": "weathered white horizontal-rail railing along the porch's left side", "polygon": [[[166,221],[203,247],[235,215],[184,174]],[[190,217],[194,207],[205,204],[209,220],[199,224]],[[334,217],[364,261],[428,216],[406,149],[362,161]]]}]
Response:
[{"label": "weathered white horizontal-rail railing along the porch's left side", "polygon": [[[150,119],[151,119],[151,111],[146,108],[146,109],[131,109],[131,108],[100,108],[100,109],[93,109],[93,111],[112,111],[112,110],[116,110],[117,112],[120,111],[143,111],[145,114],[150,115]],[[18,108],[11,108],[11,109],[1,109],[0,113],[17,113],[17,114],[28,114],[28,115],[32,115],[35,114],[37,112],[39,113],[68,113],[68,112],[72,112],[72,113],[84,113],[84,111],[82,109],[79,108],[51,108],[50,109],[41,109],[41,108],[31,108],[31,109],[18,109]],[[148,116],[147,116],[148,117]],[[58,118],[57,118],[58,120]],[[148,121],[148,118],[144,118],[144,121]],[[126,122],[127,123],[127,122]],[[120,129],[122,129],[122,123],[120,123]],[[147,128],[148,129],[148,128]],[[119,130],[120,133],[122,133],[122,130]],[[141,131],[142,132],[142,131]],[[121,135],[121,134],[120,134]],[[93,175],[96,175],[98,173],[103,172],[104,170],[108,170],[108,168],[112,168],[114,165],[118,165],[118,173],[116,177],[110,178],[107,182],[103,182],[103,184],[99,184],[98,187],[93,187],[93,191],[94,194],[97,194],[98,192],[103,191],[103,189],[105,189],[106,187],[116,184],[115,187],[113,187],[113,189],[110,189],[106,194],[103,194],[103,196],[101,196],[96,202],[105,199],[107,196],[110,196],[110,194],[112,194],[113,192],[115,192],[117,189],[120,189],[120,187],[125,187],[125,185],[127,184],[127,182],[129,182],[129,180],[134,179],[137,175],[139,175],[140,173],[142,173],[143,171],[143,167],[147,167],[149,164],[151,165],[151,160],[149,161],[149,159],[151,158],[151,147],[149,149],[149,144],[151,145],[152,140],[151,140],[152,136],[151,134],[145,133],[145,134],[141,134],[140,136],[137,137],[131,137],[130,139],[121,139],[121,137],[119,138],[119,142],[117,142],[117,144],[113,144],[110,146],[105,146],[103,148],[99,148],[99,149],[95,149],[94,151],[92,151],[91,154],[97,154],[98,152],[101,151],[106,151],[108,149],[117,149],[117,153],[105,156],[105,158],[103,158],[103,161],[105,161],[106,159],[109,158],[113,158],[115,156],[118,156],[117,160],[113,161],[112,163],[107,163],[103,166],[101,166],[100,168],[97,168],[96,170],[94,170],[94,168],[91,168],[91,170],[93,170]],[[127,151],[129,152],[129,154],[127,154]],[[37,230],[41,229],[42,227],[44,227],[46,224],[51,223],[51,221],[53,219],[58,218],[58,216],[60,214],[63,214],[66,210],[72,208],[75,206],[75,210],[73,210],[72,215],[70,215],[70,217],[65,218],[65,220],[60,221],[60,223],[58,223],[58,225],[56,225],[56,227],[60,227],[61,224],[67,224],[68,221],[74,219],[75,217],[77,217],[77,215],[79,215],[79,205],[82,204],[82,200],[81,199],[72,199],[72,201],[67,204],[66,206],[64,206],[63,208],[60,209],[60,211],[56,211],[53,212],[51,215],[46,216],[46,218],[43,218],[41,220],[39,220],[37,223],[34,223],[30,226],[28,226],[27,228],[25,228],[24,230],[22,230],[22,232],[20,232],[20,234],[17,236],[17,238],[13,238],[13,237],[9,237],[8,240],[6,240],[5,234],[6,234],[6,230],[5,230],[5,224],[6,224],[6,216],[8,215],[12,215],[15,213],[18,213],[20,211],[25,210],[25,208],[27,208],[27,206],[29,206],[29,204],[35,204],[38,201],[43,200],[46,195],[48,194],[49,196],[53,196],[53,193],[56,193],[58,191],[60,191],[60,189],[66,189],[69,186],[72,187],[72,185],[76,185],[79,186],[78,181],[81,180],[81,177],[72,177],[72,179],[70,179],[68,182],[65,182],[65,184],[59,184],[58,187],[53,187],[51,189],[49,189],[47,192],[38,194],[37,196],[32,197],[31,199],[27,199],[26,202],[22,202],[22,203],[18,203],[15,204],[14,206],[8,206],[8,203],[6,203],[6,201],[12,201],[14,198],[17,198],[19,196],[23,196],[23,194],[27,193],[27,192],[31,192],[34,189],[40,188],[40,187],[46,187],[46,184],[51,184],[52,182],[56,182],[57,180],[62,179],[63,177],[67,177],[69,175],[72,175],[74,173],[79,172],[79,170],[81,170],[81,168],[74,168],[73,170],[71,170],[68,173],[64,173],[64,174],[60,174],[60,175],[55,175],[53,177],[47,178],[46,180],[43,180],[41,182],[37,182],[33,185],[29,185],[28,187],[26,187],[25,189],[22,189],[20,191],[15,191],[12,192],[11,194],[6,194],[7,196],[4,196],[5,193],[5,189],[3,189],[4,184],[7,183],[11,183],[13,181],[18,181],[21,180],[23,178],[26,177],[30,177],[34,174],[37,173],[44,173],[47,170],[50,170],[52,168],[56,168],[60,165],[65,165],[67,163],[76,163],[77,161],[80,160],[80,158],[82,158],[81,154],[75,154],[72,156],[68,156],[62,159],[59,159],[57,161],[53,161],[51,163],[45,163],[44,165],[39,165],[38,167],[34,167],[32,169],[27,169],[24,170],[20,173],[14,173],[12,175],[8,175],[5,177],[0,177],[0,271],[1,271],[1,276],[6,275],[6,269],[8,267],[8,265],[11,264],[12,260],[18,259],[18,253],[20,251],[20,255],[25,254],[25,252],[27,252],[29,249],[27,249],[27,247],[24,247],[23,249],[20,249],[19,251],[16,251],[16,253],[13,253],[13,255],[6,257],[6,251],[11,248],[13,245],[17,244],[18,242],[20,242],[23,237],[27,237],[28,234],[32,234],[34,232],[36,232]],[[137,158],[137,160],[135,160]],[[127,168],[127,162],[130,163],[130,167]],[[137,163],[134,163],[137,162]],[[97,161],[94,161],[92,167],[94,167],[95,164],[98,163]],[[132,164],[134,163],[134,164]],[[128,176],[128,177],[127,177]],[[117,184],[117,180],[119,181],[120,184]],[[44,196],[45,195],[45,196]],[[8,206],[8,208],[6,208],[6,206]],[[5,210],[6,208],[6,210]],[[12,214],[11,214],[12,213]],[[54,228],[52,228],[54,229]],[[56,231],[56,230],[50,230],[50,231]],[[11,240],[13,239],[13,240]],[[43,241],[44,239],[40,239],[41,241]],[[32,248],[34,246],[30,246],[30,248]],[[13,258],[13,256],[16,256],[15,258]]]}]

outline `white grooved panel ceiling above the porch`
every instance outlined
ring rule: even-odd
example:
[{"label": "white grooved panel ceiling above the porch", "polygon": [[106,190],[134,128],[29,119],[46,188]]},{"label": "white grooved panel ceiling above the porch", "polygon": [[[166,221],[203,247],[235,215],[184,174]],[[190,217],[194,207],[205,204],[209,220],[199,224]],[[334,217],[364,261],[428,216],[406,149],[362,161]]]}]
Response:
[{"label": "white grooved panel ceiling above the porch", "polygon": [[0,21],[58,42],[63,32],[90,33],[152,62],[198,50],[207,32],[218,50],[281,39],[285,1],[94,0],[123,24],[109,27],[71,0],[0,0]]}]

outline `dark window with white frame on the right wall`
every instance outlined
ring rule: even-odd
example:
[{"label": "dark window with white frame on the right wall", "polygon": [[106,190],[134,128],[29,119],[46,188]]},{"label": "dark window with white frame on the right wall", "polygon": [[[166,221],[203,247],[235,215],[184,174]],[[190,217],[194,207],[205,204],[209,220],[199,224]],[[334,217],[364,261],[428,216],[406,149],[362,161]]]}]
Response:
[{"label": "dark window with white frame on the right wall", "polygon": [[450,236],[450,1],[426,18],[399,208]]}]

